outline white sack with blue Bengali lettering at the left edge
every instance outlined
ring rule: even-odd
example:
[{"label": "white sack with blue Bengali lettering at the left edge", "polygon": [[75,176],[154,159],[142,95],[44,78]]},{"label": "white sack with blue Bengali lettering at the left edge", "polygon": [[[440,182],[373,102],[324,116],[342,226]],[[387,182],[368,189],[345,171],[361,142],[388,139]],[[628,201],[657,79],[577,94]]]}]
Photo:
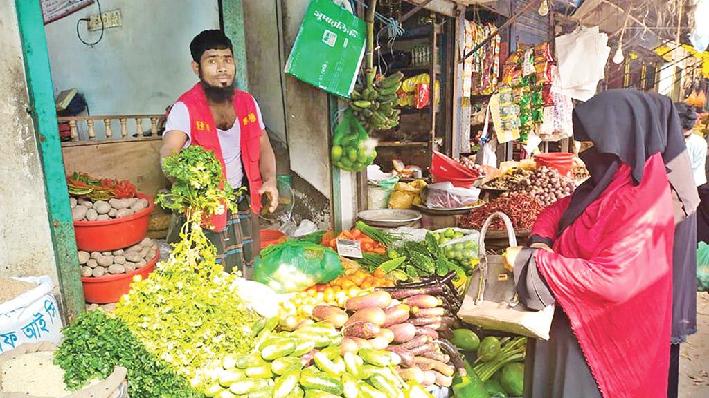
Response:
[{"label": "white sack with blue Bengali lettering at the left edge", "polygon": [[62,341],[62,318],[49,276],[13,278],[36,288],[0,304],[0,352],[23,343]]}]

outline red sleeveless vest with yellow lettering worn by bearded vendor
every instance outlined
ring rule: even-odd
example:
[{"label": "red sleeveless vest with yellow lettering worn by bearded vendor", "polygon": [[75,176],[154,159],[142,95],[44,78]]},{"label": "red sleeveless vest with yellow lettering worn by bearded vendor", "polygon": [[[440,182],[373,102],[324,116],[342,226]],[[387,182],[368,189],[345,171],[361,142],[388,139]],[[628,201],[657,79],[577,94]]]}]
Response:
[{"label": "red sleeveless vest with yellow lettering worn by bearded vendor", "polygon": [[[216,155],[222,165],[222,175],[226,178],[226,166],[222,156],[221,145],[217,135],[217,128],[214,125],[214,117],[209,108],[207,97],[200,83],[197,83],[182,94],[177,100],[184,103],[189,110],[189,124],[191,131],[191,144],[199,145],[208,149]],[[261,197],[259,189],[263,184],[259,159],[261,155],[261,123],[256,110],[256,102],[250,93],[241,90],[234,91],[232,101],[236,112],[236,121],[239,123],[241,131],[241,159],[244,165],[244,174],[249,181],[249,193],[251,208],[254,212],[261,210]],[[214,231],[221,231],[226,227],[226,212],[222,215],[214,215],[208,220]]]}]

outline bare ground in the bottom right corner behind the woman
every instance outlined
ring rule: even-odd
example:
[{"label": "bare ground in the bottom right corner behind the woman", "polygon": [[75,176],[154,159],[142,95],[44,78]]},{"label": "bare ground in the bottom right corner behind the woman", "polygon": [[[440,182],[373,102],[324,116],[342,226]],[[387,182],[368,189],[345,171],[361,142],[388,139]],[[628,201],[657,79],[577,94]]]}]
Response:
[{"label": "bare ground in the bottom right corner behind the woman", "polygon": [[709,397],[709,293],[697,294],[699,331],[682,344],[679,362],[679,396]]}]

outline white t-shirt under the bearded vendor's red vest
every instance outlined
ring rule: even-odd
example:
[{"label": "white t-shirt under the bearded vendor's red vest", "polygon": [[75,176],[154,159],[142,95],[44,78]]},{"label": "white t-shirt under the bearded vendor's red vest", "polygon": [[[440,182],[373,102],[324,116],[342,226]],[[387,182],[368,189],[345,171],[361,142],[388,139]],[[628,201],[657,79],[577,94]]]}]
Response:
[{"label": "white t-shirt under the bearded vendor's red vest", "polygon": [[[259,125],[261,130],[266,128],[261,115],[261,108],[254,100],[256,112],[258,113]],[[238,118],[237,118],[238,120]],[[187,135],[187,142],[184,147],[189,147],[192,142],[191,125],[189,123],[189,110],[183,102],[176,102],[165,122],[165,132],[170,130],[182,131]],[[219,144],[222,149],[222,157],[226,166],[226,179],[234,188],[239,188],[244,179],[244,166],[241,164],[241,127],[240,123],[234,123],[229,130],[217,129]],[[183,148],[184,149],[184,148]]]}]

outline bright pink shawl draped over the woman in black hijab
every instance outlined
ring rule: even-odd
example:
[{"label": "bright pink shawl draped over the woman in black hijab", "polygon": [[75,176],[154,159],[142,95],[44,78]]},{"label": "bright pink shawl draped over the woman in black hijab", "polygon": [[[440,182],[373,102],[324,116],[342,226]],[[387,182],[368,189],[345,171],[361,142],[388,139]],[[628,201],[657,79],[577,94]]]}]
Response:
[{"label": "bright pink shawl draped over the woman in black hijab", "polygon": [[664,398],[671,332],[674,220],[666,168],[649,157],[639,185],[622,164],[601,196],[557,238],[570,198],[537,219],[554,241],[535,261],[571,320],[605,398]]}]

